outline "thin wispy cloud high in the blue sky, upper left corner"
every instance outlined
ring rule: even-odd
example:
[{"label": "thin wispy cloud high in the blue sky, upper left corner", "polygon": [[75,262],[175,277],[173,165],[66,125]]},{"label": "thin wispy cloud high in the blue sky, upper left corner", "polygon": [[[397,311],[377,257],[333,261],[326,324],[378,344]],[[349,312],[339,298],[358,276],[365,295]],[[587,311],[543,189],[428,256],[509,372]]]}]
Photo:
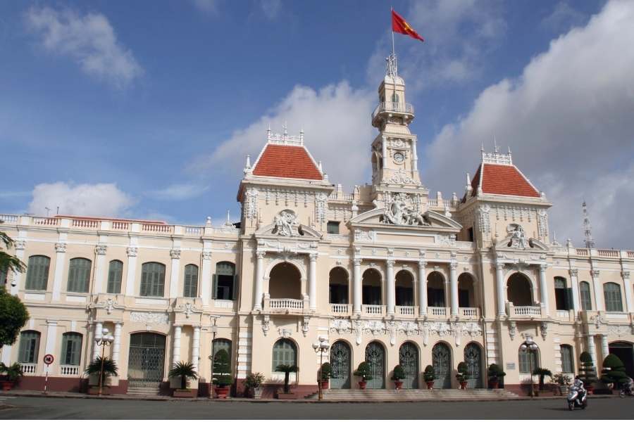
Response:
[{"label": "thin wispy cloud high in the blue sky, upper left corner", "polygon": [[117,41],[108,18],[101,13],[79,15],[32,7],[25,19],[46,51],[73,58],[87,75],[123,88],[143,74],[132,51]]}]

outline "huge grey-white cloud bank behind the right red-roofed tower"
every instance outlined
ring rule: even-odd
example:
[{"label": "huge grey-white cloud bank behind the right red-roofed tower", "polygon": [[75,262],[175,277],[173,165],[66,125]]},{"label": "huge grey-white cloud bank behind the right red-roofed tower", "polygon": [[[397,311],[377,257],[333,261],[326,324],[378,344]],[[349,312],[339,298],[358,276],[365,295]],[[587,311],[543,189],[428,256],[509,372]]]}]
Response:
[{"label": "huge grey-white cloud bank behind the right red-roofed tower", "polygon": [[[551,229],[581,243],[588,201],[598,245],[632,248],[634,3],[611,1],[583,28],[551,42],[517,79],[485,89],[425,151],[425,181],[464,186],[480,143],[508,143],[514,162],[554,203]],[[453,171],[449,171],[452,169]],[[473,174],[473,173],[472,173]]]}]

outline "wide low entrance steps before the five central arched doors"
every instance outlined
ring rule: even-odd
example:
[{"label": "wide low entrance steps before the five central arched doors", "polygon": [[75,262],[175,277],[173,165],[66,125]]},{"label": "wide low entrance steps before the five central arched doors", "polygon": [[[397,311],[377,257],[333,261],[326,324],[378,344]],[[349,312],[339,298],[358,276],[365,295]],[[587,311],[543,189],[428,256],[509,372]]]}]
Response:
[{"label": "wide low entrance steps before the five central arched doors", "polygon": [[[472,388],[467,390],[434,389],[434,390],[323,390],[323,399],[341,402],[354,401],[478,401],[514,399],[518,397],[514,392],[504,390],[488,390],[486,388]],[[317,393],[306,396],[316,399]]]}]

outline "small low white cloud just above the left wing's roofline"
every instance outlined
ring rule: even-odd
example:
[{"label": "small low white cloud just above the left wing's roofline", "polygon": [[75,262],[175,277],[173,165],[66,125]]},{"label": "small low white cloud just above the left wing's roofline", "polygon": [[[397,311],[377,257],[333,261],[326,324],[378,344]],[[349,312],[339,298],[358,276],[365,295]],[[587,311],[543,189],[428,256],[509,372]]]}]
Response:
[{"label": "small low white cloud just above the left wing's roofline", "polygon": [[58,181],[35,186],[29,212],[46,215],[46,207],[53,213],[59,207],[61,215],[121,217],[134,203],[135,200],[116,184],[74,185]]}]

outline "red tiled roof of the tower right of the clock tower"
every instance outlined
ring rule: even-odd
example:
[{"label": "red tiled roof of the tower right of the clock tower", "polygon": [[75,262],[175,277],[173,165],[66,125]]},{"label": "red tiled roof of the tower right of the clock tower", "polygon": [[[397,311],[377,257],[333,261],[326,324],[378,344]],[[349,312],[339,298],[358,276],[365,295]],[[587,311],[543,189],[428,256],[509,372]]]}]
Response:
[{"label": "red tiled roof of the tower right of the clock tower", "polygon": [[[483,193],[527,196],[529,198],[540,197],[540,193],[530,185],[526,177],[523,177],[523,174],[521,174],[514,165],[489,164],[485,162],[482,168]],[[474,196],[478,191],[478,184],[480,184],[479,168],[471,182],[471,186],[473,186],[472,195]]]}]

